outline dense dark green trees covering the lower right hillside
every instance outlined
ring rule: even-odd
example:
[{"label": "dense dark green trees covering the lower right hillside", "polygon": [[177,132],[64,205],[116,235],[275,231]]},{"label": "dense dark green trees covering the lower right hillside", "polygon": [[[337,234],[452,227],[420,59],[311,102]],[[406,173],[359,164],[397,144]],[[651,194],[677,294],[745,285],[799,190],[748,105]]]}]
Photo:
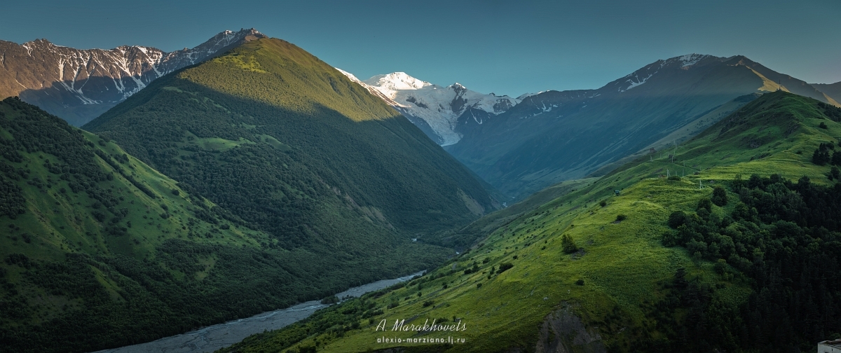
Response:
[{"label": "dense dark green trees covering the lower right hillside", "polygon": [[[701,217],[686,218],[686,224],[667,234],[669,240],[664,237],[664,244],[676,241],[690,253],[716,261],[718,273],[733,266],[754,279],[752,299],[738,308],[745,313],[742,319],[727,324],[706,321],[694,326],[690,335],[706,337],[707,342],[724,340],[725,346],[745,350],[773,350],[822,340],[823,333],[841,330],[837,321],[812,320],[818,312],[841,317],[841,294],[828,290],[841,281],[841,184],[822,187],[807,177],[793,183],[772,175],[751,176],[748,185],[738,190],[741,202],[726,218],[699,212]],[[711,312],[716,305],[705,303],[700,309]],[[775,334],[780,328],[785,329],[784,337]],[[722,336],[728,331],[746,335]],[[756,339],[771,336],[775,340]]]}]

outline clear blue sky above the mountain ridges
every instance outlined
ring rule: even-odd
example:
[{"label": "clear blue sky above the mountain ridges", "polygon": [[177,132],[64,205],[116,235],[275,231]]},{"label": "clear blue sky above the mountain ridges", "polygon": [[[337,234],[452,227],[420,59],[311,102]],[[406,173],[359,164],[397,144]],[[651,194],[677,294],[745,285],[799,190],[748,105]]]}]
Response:
[{"label": "clear blue sky above the mountain ridges", "polygon": [[676,55],[747,55],[841,81],[841,1],[4,2],[0,40],[76,48],[193,47],[256,28],[362,79],[405,71],[517,96],[601,87]]}]

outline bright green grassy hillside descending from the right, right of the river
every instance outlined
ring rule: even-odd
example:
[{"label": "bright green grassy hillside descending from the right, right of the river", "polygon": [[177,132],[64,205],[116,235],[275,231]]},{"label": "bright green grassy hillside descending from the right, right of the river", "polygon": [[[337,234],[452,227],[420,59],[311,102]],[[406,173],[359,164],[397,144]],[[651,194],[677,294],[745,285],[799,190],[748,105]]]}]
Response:
[{"label": "bright green grassy hillside descending from the right, right of the river", "polygon": [[[829,336],[834,332],[831,329],[839,329],[839,308],[832,304],[838,300],[838,293],[826,290],[831,282],[820,282],[838,277],[833,274],[838,271],[841,254],[837,224],[803,228],[807,233],[822,235],[798,244],[801,240],[786,238],[794,234],[780,235],[779,229],[785,224],[770,224],[755,215],[753,221],[733,217],[741,212],[743,203],[739,200],[754,204],[756,199],[751,195],[759,190],[739,189],[737,184],[803,187],[802,182],[781,181],[807,176],[812,180],[811,190],[829,190],[828,195],[841,192],[838,183],[828,179],[832,166],[812,163],[812,152],[821,143],[838,144],[841,117],[833,118],[837,112],[837,108],[807,97],[767,93],[680,145],[674,158],[645,156],[563,196],[528,205],[528,212],[513,219],[506,219],[501,212],[491,213],[478,223],[499,224],[498,228],[478,240],[471,251],[426,276],[321,311],[287,329],[252,336],[225,351],[285,351],[291,347],[291,351],[350,352],[405,347],[405,351],[491,352],[550,351],[558,346],[565,351],[812,349],[810,340],[814,336]],[[754,173],[779,176],[765,182],[760,178],[731,182],[737,175],[747,180]],[[683,177],[670,180],[667,174]],[[775,180],[780,183],[774,184]],[[728,203],[720,207],[702,201],[711,198],[711,187],[722,184],[730,190],[726,193]],[[833,185],[833,189],[822,189]],[[614,190],[621,194],[615,195]],[[837,198],[824,198],[834,206],[816,206],[812,212],[825,209],[838,213],[841,208]],[[699,203],[708,205],[709,210],[696,208]],[[721,228],[702,239],[721,237],[718,232],[732,235],[738,244],[734,250],[727,250],[731,256],[715,252],[725,252],[724,242],[715,251],[712,245],[717,243],[710,242],[710,247],[705,245],[694,255],[682,246],[664,246],[664,234],[672,239],[685,231],[669,228],[670,215],[675,211],[697,215],[696,220],[685,221],[696,224],[693,229],[726,228],[727,224],[735,227],[736,233]],[[759,217],[769,214],[762,211]],[[837,217],[827,214],[822,219]],[[487,229],[480,226],[476,231],[485,234]],[[566,236],[581,249],[564,251]],[[751,238],[756,236],[760,240]],[[691,251],[699,249],[697,245],[686,246]],[[799,259],[796,261],[785,257],[786,253],[812,254],[808,251],[822,251],[824,255],[795,257]],[[717,256],[725,260],[716,261]],[[747,262],[740,260],[744,256],[748,256]],[[783,267],[775,267],[780,263]],[[801,265],[785,266],[794,263],[811,268],[810,276],[817,277],[800,277],[807,273]],[[815,272],[818,263],[826,270]],[[500,268],[507,270],[500,272]],[[780,268],[783,278],[800,278],[800,282],[774,282],[774,277],[780,278]],[[771,271],[770,277],[766,270]],[[822,283],[818,286],[822,289],[803,292],[803,286],[813,283]],[[757,292],[758,288],[763,289]],[[780,298],[789,296],[785,301],[791,302],[780,304],[769,293]],[[793,313],[785,307],[795,305],[795,300],[797,305],[801,305],[799,300],[820,303],[827,317],[823,321],[799,321],[805,312]],[[780,321],[783,317],[785,321]],[[384,332],[377,330],[383,319],[388,324]],[[460,320],[466,329],[391,331],[394,320],[401,319],[406,324],[424,324],[426,319],[439,323],[446,320],[446,324]],[[452,336],[466,342],[378,343],[383,336]]]}]

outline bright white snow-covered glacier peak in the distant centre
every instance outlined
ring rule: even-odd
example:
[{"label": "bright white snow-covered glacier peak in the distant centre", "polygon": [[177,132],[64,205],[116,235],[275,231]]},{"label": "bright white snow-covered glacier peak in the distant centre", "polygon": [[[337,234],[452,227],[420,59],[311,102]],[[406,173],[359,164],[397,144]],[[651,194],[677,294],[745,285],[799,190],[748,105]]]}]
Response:
[{"label": "bright white snow-covered glacier peak in the distant centre", "polygon": [[[400,113],[421,126],[439,145],[453,145],[462,139],[463,124],[482,124],[484,119],[508,111],[520,99],[468,90],[458,83],[441,87],[421,81],[405,72],[377,75],[361,81],[341,71],[353,82],[383,98]],[[474,111],[475,110],[475,111]],[[471,123],[473,122],[473,123]]]}]

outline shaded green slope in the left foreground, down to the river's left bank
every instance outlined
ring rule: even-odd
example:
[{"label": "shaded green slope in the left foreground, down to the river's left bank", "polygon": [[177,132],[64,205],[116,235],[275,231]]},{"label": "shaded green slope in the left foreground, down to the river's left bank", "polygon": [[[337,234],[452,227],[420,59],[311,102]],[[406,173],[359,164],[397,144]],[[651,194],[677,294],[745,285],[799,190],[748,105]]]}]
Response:
[{"label": "shaded green slope in the left foreground, down to the river's left bank", "polygon": [[[13,97],[0,103],[0,155],[4,352],[155,340],[426,268],[449,253],[385,231],[360,234],[358,246],[375,255],[357,260],[358,248],[346,245],[335,254],[346,272],[336,271],[314,251],[276,246],[114,141]],[[365,217],[352,208],[312,213]]]}]

